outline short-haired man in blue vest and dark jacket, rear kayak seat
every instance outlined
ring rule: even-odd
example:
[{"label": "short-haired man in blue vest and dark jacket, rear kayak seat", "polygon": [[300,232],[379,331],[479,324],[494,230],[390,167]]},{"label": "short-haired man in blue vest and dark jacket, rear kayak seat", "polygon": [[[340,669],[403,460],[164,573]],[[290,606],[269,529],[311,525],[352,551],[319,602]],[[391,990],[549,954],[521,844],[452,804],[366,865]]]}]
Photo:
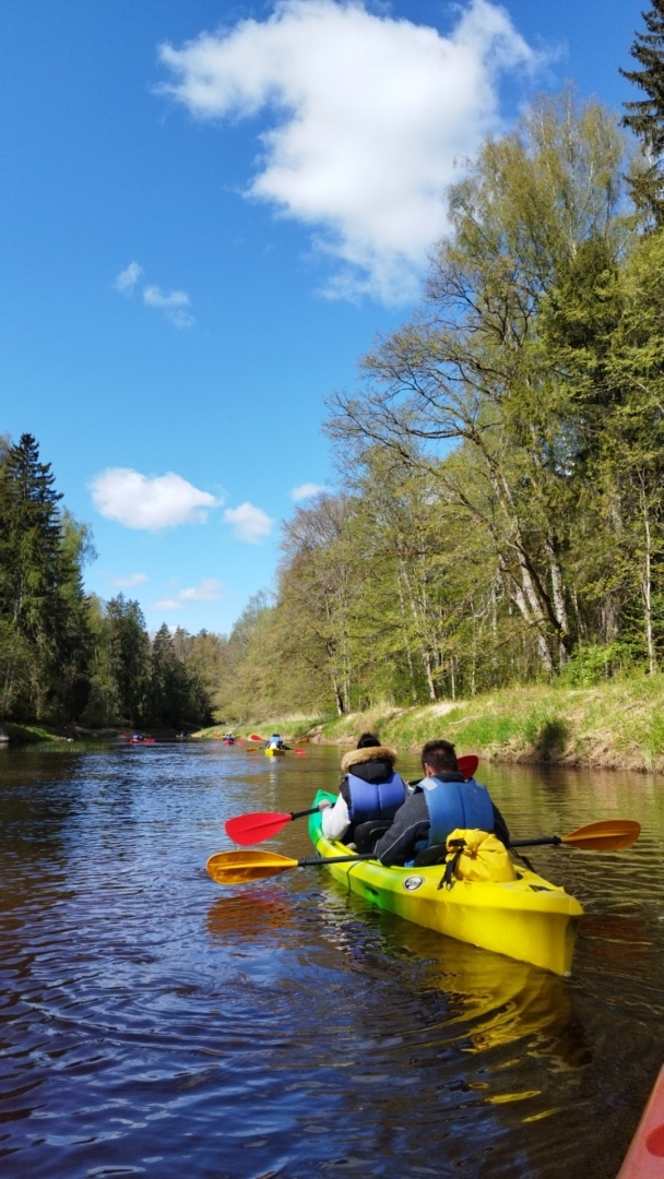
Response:
[{"label": "short-haired man in blue vest and dark jacket, rear kayak seat", "polygon": [[376,843],[376,859],[386,867],[409,864],[416,856],[423,861],[426,849],[445,847],[458,828],[479,828],[497,835],[506,845],[509,843],[505,819],[486,786],[474,778],[465,782],[459,772],[454,745],[448,740],[429,740],[421,760],[425,777]]}]

